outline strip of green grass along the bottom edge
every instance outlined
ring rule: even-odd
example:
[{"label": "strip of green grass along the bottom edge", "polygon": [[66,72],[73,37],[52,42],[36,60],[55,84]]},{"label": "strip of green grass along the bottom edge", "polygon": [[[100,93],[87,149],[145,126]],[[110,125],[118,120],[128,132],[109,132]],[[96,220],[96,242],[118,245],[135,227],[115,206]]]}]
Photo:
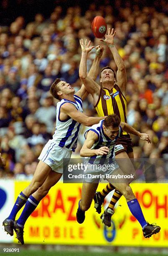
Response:
[{"label": "strip of green grass along the bottom edge", "polygon": [[2,253],[0,252],[0,256],[5,255],[18,255],[18,256],[159,256],[161,254],[143,254],[143,253],[103,253],[103,252],[80,252],[80,251],[32,251],[32,250],[22,250],[20,248],[20,252],[18,253]]}]

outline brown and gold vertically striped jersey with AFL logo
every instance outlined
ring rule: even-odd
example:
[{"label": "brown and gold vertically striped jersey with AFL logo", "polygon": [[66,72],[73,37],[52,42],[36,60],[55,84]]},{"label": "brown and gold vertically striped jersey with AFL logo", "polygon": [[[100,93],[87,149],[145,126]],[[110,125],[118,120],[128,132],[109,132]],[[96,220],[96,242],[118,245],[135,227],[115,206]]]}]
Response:
[{"label": "brown and gold vertically striped jersey with AFL logo", "polygon": [[[116,114],[122,122],[127,123],[127,101],[117,84],[111,90],[104,87],[100,89],[99,98],[94,108],[98,116]],[[127,133],[123,132],[123,134]]]}]

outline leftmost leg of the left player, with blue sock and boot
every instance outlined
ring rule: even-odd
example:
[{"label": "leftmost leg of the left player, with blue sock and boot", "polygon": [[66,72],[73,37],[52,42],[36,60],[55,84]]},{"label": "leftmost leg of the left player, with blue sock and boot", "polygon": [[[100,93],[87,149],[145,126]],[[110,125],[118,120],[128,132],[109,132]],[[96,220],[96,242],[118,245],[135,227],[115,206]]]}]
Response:
[{"label": "leftmost leg of the left player, with blue sock and boot", "polygon": [[16,214],[23,207],[23,205],[25,205],[28,197],[33,194],[33,192],[35,192],[39,187],[41,187],[49,172],[51,172],[51,167],[40,161],[31,183],[18,195],[10,215],[3,221],[4,229],[7,233],[10,234],[10,236],[13,236],[13,225]]}]

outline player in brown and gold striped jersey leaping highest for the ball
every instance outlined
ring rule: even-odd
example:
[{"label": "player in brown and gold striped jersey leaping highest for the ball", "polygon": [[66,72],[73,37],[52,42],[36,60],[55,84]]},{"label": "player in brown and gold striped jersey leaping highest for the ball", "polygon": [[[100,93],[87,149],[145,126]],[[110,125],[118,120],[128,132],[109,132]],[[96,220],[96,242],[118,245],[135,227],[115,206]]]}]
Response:
[{"label": "player in brown and gold striped jersey leaping highest for the ball", "polygon": [[[90,82],[90,80],[87,79],[86,76],[83,76],[83,74],[80,74],[80,72],[79,76],[87,91],[92,94],[94,100],[94,108],[99,116],[112,115],[115,113],[120,117],[122,122],[127,123],[127,101],[125,98],[127,75],[124,62],[114,44],[115,33],[116,31],[114,31],[114,28],[112,28],[112,30],[109,28],[108,33],[105,35],[105,40],[100,39],[100,41],[103,41],[104,44],[109,47],[112,56],[114,57],[115,63],[117,65],[117,77],[115,76],[114,70],[109,66],[104,67],[101,70],[100,82],[102,87],[100,87],[96,82]],[[86,69],[86,63],[84,58],[82,59],[81,67],[84,70]],[[118,161],[122,172],[125,174],[134,172],[134,167],[130,160],[134,158],[132,143],[130,135],[127,132],[123,132],[122,136],[116,141],[115,158],[125,159],[125,161]],[[96,192],[94,196],[94,202],[98,213],[101,212],[101,206],[104,202],[104,198],[113,189],[115,189],[115,187],[113,187],[112,184],[107,184],[107,186],[101,192]],[[114,214],[114,206],[121,196],[122,194],[115,189],[109,206],[104,211],[103,216],[101,216],[105,225],[111,225],[111,216]]]}]

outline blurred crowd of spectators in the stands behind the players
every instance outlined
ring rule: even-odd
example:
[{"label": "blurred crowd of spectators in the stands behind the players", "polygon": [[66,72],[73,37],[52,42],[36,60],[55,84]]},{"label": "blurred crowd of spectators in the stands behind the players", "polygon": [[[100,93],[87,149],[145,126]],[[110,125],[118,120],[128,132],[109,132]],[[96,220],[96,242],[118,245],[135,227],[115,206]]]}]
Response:
[{"label": "blurred crowd of spectators in the stands behind the players", "polygon": [[[79,38],[102,45],[91,30],[96,15],[116,30],[115,46],[127,71],[127,122],[151,138],[148,144],[131,136],[134,156],[168,159],[168,4],[162,0],[159,6],[154,2],[148,7],[141,1],[127,1],[122,6],[121,2],[93,2],[85,12],[80,6],[57,5],[47,19],[37,13],[26,23],[20,13],[8,26],[0,25],[0,152],[7,160],[0,178],[33,176],[38,156],[56,126],[57,100],[51,97],[50,86],[61,78],[75,90],[80,88]],[[110,65],[117,71],[109,48],[102,46],[100,69]],[[92,50],[88,70],[94,56]],[[84,113],[96,115],[90,95]],[[76,156],[85,130],[79,136]],[[168,179],[164,166],[157,168],[156,162],[157,175]]]}]

